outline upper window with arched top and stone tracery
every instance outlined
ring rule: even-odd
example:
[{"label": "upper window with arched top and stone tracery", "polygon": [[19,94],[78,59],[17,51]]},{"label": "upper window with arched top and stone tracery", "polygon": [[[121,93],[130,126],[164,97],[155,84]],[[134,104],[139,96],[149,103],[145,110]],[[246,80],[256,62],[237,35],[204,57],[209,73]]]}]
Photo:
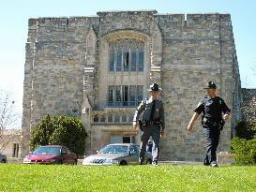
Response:
[{"label": "upper window with arched top and stone tracery", "polygon": [[142,41],[121,39],[110,43],[110,71],[143,71],[144,46]]}]

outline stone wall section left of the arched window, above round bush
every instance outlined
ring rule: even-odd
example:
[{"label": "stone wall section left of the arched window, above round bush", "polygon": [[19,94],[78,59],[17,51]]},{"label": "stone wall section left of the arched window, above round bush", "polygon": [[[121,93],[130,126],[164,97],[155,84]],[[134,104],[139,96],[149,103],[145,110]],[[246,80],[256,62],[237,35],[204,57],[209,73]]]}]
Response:
[{"label": "stone wall section left of the arched window, above round bush", "polygon": [[24,66],[23,154],[30,131],[45,114],[81,117],[86,33],[98,17],[29,20]]}]

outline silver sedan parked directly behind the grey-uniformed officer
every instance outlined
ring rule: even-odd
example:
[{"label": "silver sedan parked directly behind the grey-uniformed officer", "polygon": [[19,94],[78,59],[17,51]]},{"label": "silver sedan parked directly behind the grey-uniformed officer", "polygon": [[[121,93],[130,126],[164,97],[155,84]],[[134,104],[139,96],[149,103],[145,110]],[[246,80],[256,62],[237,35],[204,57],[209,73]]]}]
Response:
[{"label": "silver sedan parked directly behind the grey-uniformed officer", "polygon": [[[109,144],[83,159],[83,165],[138,165],[140,146],[133,143]],[[152,163],[152,155],[145,155],[147,164]]]}]

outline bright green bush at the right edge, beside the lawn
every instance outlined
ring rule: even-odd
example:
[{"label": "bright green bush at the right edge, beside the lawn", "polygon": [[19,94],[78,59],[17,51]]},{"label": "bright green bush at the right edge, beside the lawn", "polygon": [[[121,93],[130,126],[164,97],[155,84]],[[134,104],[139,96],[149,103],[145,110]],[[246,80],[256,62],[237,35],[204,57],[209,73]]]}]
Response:
[{"label": "bright green bush at the right edge, beside the lawn", "polygon": [[233,138],[231,141],[232,152],[236,154],[235,162],[239,165],[256,164],[256,139],[245,140]]}]

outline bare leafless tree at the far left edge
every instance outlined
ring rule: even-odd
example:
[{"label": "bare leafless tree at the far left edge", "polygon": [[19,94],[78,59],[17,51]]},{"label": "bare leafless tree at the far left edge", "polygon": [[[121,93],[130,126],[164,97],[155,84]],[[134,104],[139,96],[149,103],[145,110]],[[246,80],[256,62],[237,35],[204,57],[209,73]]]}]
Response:
[{"label": "bare leafless tree at the far left edge", "polygon": [[21,115],[15,111],[15,101],[7,91],[0,90],[0,153],[5,150],[8,142],[16,135],[17,124]]}]

